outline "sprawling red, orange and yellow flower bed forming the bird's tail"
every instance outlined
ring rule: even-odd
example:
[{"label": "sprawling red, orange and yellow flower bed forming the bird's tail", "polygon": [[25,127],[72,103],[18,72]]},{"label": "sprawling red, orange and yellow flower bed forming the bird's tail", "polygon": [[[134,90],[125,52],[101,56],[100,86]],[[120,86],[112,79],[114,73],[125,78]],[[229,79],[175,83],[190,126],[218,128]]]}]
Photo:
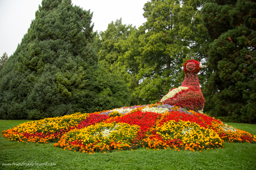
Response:
[{"label": "sprawling red, orange and yellow flower bed forming the bird's tail", "polygon": [[29,121],[2,131],[10,141],[47,143],[74,152],[147,149],[196,151],[224,141],[255,143],[256,136],[206,114],[169,104],[124,107]]}]

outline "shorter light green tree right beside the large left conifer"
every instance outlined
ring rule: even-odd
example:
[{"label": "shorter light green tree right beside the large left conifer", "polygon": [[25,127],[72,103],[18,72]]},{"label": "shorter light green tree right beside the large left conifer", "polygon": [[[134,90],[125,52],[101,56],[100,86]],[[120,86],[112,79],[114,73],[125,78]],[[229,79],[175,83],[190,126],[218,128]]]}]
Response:
[{"label": "shorter light green tree right beside the large left conifer", "polygon": [[96,38],[98,44],[99,61],[111,73],[123,77],[130,89],[131,105],[139,104],[138,95],[135,94],[139,85],[140,70],[139,37],[140,32],[132,25],[122,24],[122,18],[108,24],[104,32]]}]

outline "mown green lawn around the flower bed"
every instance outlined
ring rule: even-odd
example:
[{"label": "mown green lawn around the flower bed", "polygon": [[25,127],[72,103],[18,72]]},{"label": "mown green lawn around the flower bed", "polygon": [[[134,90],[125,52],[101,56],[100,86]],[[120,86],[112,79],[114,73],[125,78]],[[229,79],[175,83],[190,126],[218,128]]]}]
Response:
[{"label": "mown green lawn around the flower bed", "polygon": [[[29,120],[0,120],[0,131]],[[256,135],[256,125],[227,123]],[[54,166],[5,166],[3,163],[55,163]],[[256,144],[224,143],[224,149],[200,152],[146,150],[85,154],[63,151],[53,143],[18,143],[0,136],[0,169],[85,170],[246,170],[256,169]]]}]

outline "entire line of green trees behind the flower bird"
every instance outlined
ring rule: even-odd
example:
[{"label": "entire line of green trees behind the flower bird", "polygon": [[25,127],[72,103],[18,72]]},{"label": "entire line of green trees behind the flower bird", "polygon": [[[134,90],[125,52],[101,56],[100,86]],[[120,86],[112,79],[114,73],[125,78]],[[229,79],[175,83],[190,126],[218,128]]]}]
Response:
[{"label": "entire line of green trees behind the flower bird", "polygon": [[69,0],[43,0],[0,72],[2,119],[62,116],[150,104],[199,74],[204,112],[256,122],[255,0],[150,0],[146,23],[111,22],[94,33],[92,14]]}]

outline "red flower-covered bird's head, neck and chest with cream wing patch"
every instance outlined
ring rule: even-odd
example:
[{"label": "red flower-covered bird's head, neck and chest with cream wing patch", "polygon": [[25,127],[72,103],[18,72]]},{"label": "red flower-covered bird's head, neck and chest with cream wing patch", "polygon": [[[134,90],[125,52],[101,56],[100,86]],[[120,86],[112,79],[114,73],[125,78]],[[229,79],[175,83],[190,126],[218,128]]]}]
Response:
[{"label": "red flower-covered bird's head, neck and chest with cream wing patch", "polygon": [[160,103],[176,105],[188,110],[202,112],[204,107],[203,93],[200,88],[197,73],[201,68],[196,60],[187,60],[184,64],[185,79],[180,87],[173,88],[166,94]]}]

